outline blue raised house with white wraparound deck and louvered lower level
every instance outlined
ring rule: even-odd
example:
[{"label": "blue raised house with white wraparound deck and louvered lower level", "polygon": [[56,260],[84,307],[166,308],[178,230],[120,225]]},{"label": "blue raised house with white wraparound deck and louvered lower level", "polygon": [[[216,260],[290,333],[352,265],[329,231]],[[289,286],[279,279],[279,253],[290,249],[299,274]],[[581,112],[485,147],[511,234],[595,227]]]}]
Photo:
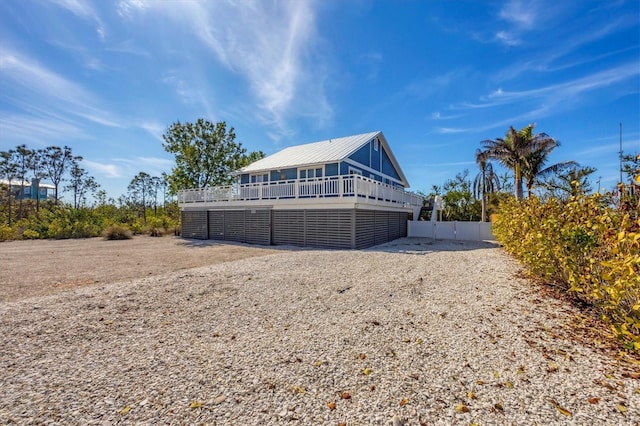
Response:
[{"label": "blue raised house with white wraparound deck and louvered lower level", "polygon": [[379,131],[285,148],[236,177],[178,193],[183,237],[359,249],[405,237],[423,204]]}]

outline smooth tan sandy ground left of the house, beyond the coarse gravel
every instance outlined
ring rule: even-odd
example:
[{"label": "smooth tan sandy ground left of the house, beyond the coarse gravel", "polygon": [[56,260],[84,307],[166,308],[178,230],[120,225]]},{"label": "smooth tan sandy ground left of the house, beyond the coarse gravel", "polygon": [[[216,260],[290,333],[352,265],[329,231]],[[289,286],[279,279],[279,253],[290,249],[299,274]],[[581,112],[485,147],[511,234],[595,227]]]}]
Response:
[{"label": "smooth tan sandy ground left of the house, beyond the coarse gravel", "polygon": [[24,240],[0,243],[0,302],[149,277],[179,269],[277,252],[275,247],[224,244],[213,240],[135,236]]}]

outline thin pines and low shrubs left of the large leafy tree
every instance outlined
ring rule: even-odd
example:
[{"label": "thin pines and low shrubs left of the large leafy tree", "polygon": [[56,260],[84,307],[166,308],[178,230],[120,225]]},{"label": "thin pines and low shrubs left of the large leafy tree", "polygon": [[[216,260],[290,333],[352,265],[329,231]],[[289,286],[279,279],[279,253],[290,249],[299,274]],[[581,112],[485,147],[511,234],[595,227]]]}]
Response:
[{"label": "thin pines and low shrubs left of the large leafy tree", "polygon": [[[165,193],[163,205],[158,206],[158,191],[166,189],[163,179],[140,172],[127,195],[117,201],[107,200],[96,180],[80,166],[81,161],[82,157],[74,156],[69,147],[32,150],[20,145],[0,152],[0,179],[8,181],[0,185],[0,241],[97,237],[119,227],[136,234],[178,232],[177,204],[167,203]],[[145,178],[143,186],[141,177]],[[41,199],[39,191],[32,191],[36,199],[25,199],[25,186],[42,179],[53,182],[53,197]],[[59,197],[58,188],[65,182],[64,190],[71,194],[72,203],[64,203]],[[96,200],[91,205],[87,203],[89,195]],[[153,220],[147,221],[151,215]]]}]

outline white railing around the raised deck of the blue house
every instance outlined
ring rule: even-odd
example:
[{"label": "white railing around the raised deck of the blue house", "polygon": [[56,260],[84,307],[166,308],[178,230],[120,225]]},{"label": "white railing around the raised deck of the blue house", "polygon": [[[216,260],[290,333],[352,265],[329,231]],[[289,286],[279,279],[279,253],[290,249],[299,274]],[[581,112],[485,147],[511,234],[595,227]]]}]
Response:
[{"label": "white railing around the raised deck of the blue house", "polygon": [[358,198],[358,202],[422,206],[423,198],[360,175],[247,183],[178,192],[178,203],[231,203],[279,199]]}]

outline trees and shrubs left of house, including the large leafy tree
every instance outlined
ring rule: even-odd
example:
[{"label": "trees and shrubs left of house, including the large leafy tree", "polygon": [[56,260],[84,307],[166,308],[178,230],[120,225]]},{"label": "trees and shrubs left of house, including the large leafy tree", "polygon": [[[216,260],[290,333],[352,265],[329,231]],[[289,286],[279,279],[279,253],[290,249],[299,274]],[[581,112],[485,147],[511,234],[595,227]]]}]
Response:
[{"label": "trees and shrubs left of house, including the large leafy tree", "polygon": [[[170,125],[163,148],[175,157],[171,171],[160,176],[140,171],[117,199],[107,197],[82,167],[83,157],[68,146],[1,151],[0,241],[92,237],[112,225],[133,233],[177,233],[179,190],[229,184],[235,170],[264,157],[262,151],[248,153],[224,121],[205,119]],[[39,190],[31,191],[35,199],[25,196],[25,187],[45,181],[53,185],[52,197],[41,199]],[[72,201],[64,202],[63,193]]]}]

